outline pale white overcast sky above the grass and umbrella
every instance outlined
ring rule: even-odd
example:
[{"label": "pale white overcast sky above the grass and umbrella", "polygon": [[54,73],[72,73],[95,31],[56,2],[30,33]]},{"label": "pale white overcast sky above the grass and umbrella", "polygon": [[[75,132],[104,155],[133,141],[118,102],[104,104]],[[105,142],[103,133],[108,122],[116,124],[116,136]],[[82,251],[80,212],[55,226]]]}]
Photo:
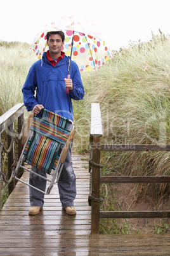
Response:
[{"label": "pale white overcast sky above the grass and umbrella", "polygon": [[170,34],[169,0],[8,0],[1,1],[0,40],[34,41],[48,22],[78,15],[95,22],[110,50],[131,41],[149,41],[152,32]]}]

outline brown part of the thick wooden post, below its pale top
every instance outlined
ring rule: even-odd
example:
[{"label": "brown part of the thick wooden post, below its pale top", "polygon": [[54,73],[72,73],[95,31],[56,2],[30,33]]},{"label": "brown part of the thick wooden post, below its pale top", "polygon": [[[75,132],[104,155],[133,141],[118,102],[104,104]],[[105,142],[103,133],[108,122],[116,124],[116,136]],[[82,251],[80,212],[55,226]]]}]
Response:
[{"label": "brown part of the thick wooden post, below its pale top", "polygon": [[[100,137],[93,137],[93,162],[100,164]],[[100,198],[100,168],[92,167],[92,194]],[[91,234],[99,234],[100,203],[91,201]]]}]

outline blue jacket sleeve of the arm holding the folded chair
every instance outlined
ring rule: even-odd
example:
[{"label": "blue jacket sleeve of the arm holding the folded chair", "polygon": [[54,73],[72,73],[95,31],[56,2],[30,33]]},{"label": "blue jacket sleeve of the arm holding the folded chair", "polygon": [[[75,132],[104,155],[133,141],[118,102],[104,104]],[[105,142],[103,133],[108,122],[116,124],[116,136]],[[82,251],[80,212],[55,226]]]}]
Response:
[{"label": "blue jacket sleeve of the arm holding the folded chair", "polygon": [[22,87],[23,104],[26,106],[28,111],[31,111],[34,106],[38,104],[34,96],[37,87],[36,81],[36,68],[33,64]]}]

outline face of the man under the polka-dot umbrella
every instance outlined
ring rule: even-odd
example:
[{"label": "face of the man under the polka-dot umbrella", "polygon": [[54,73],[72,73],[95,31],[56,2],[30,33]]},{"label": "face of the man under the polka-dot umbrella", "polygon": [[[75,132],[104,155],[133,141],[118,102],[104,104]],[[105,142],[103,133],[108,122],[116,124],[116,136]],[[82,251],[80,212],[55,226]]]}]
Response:
[{"label": "face of the man under the polka-dot umbrella", "polygon": [[61,52],[64,42],[62,42],[60,34],[51,34],[47,41],[47,45],[49,47],[49,54],[58,54]]}]

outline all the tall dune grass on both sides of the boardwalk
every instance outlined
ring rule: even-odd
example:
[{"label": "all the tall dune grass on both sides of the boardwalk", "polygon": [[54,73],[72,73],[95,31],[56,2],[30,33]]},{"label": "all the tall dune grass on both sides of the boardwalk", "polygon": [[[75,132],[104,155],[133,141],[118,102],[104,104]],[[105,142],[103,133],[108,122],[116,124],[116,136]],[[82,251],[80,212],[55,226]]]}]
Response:
[{"label": "all the tall dune grass on both sides of the boardwalk", "polygon": [[[30,65],[37,60],[30,46],[22,43],[0,42],[0,115],[16,103],[22,102],[21,88]],[[74,123],[77,134],[74,150],[89,152],[91,103],[100,103],[103,124],[102,143],[169,144],[170,142],[170,38],[160,31],[159,36],[141,43],[131,43],[128,48],[113,51],[113,59],[98,73],[82,73],[85,96],[74,101]],[[102,175],[169,175],[168,152],[114,152],[102,153]],[[128,209],[141,195],[150,197],[152,191],[160,201],[150,205],[150,210],[160,210],[169,200],[169,185],[136,185],[122,188],[102,186],[103,210]],[[131,203],[124,203],[127,193],[134,194]],[[127,192],[128,191],[128,192]],[[112,196],[108,199],[108,196]],[[118,202],[119,197],[119,202]],[[104,224],[105,227],[104,228]],[[129,220],[101,220],[101,232],[129,234],[133,227]],[[166,220],[153,224],[153,232],[167,232]],[[141,232],[138,227],[135,232]]]}]

